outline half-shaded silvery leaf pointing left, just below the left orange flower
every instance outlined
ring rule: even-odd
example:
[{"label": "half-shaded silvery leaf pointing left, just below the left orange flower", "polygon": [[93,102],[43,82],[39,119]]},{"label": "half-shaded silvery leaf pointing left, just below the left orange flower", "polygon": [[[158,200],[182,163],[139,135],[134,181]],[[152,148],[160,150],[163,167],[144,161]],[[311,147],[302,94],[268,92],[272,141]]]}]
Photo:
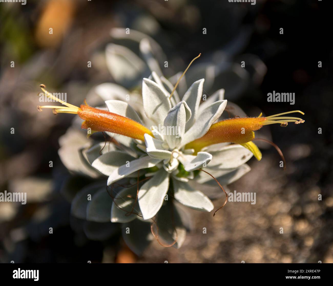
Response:
[{"label": "half-shaded silvery leaf pointing left, just below the left orange flower", "polygon": [[135,160],[123,151],[110,151],[98,157],[91,165],[106,176],[110,176],[120,166]]}]

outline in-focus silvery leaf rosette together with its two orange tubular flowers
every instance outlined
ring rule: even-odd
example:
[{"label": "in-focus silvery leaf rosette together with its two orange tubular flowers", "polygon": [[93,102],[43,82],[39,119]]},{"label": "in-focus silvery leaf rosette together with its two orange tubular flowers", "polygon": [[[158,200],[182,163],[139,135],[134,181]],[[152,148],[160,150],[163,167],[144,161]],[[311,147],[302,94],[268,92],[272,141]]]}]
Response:
[{"label": "in-focus silvery leaf rosette together with its two orange tubular flowers", "polygon": [[[86,101],[77,107],[55,98],[44,85],[41,87],[45,94],[65,106],[38,106],[38,109],[52,108],[55,114],[78,114],[88,135],[105,131],[119,141],[123,136],[131,138],[126,139],[128,148],[105,152],[91,162],[96,170],[108,176],[107,185],[111,188],[120,185],[124,178],[136,178],[132,180],[134,184],[113,197],[111,221],[129,223],[138,217],[151,219],[152,233],[162,245],[180,247],[186,230],[175,202],[197,211],[211,212],[214,207],[197,187],[213,180],[197,170],[205,168],[213,178],[229,184],[250,170],[245,163],[253,154],[261,159],[259,149],[252,142],[253,131],[266,124],[286,125],[304,120],[279,117],[290,113],[285,112],[215,123],[227,105],[223,90],[213,94],[209,103],[200,104],[204,79],[195,81],[182,100],[174,92],[177,84],[172,89],[172,84],[166,78],[163,80],[166,84],[153,71],[151,79],[144,78],[142,82],[143,109],[152,122],[150,128],[144,126],[127,102],[107,100],[108,111],[91,107]],[[220,143],[234,144],[214,148],[214,144]],[[196,182],[195,187],[191,181]]]}]

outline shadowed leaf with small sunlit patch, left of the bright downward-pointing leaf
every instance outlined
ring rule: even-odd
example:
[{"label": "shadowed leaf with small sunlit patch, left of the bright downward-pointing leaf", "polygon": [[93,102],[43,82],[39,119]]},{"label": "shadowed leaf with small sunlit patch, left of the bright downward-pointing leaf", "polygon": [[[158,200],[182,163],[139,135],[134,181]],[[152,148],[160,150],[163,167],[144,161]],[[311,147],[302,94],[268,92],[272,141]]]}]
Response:
[{"label": "shadowed leaf with small sunlit patch, left of the bright downward-pointing leaf", "polygon": [[[122,189],[114,199],[111,209],[111,221],[112,222],[129,222],[137,218],[136,214],[140,214],[139,204],[136,203],[133,213],[133,205],[137,197],[137,185]],[[117,204],[117,205],[116,205]],[[110,217],[109,217],[110,219]]]}]

